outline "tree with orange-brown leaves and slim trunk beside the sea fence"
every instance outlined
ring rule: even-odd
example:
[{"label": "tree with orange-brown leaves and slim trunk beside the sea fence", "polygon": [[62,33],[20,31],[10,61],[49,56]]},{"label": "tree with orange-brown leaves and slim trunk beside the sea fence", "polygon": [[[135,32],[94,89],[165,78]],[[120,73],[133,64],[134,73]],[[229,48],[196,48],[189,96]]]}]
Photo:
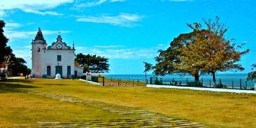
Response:
[{"label": "tree with orange-brown leaves and slim trunk beside the sea fence", "polygon": [[202,66],[202,72],[212,74],[214,87],[216,87],[216,72],[225,72],[231,70],[244,70],[239,64],[242,55],[249,52],[248,50],[241,51],[241,45],[232,43],[234,39],[225,37],[227,28],[225,24],[219,22],[219,17],[213,22],[211,19],[205,20],[206,29],[203,30],[201,24],[189,25],[196,31],[197,41],[189,46],[189,50],[183,50],[187,61],[196,63]]}]

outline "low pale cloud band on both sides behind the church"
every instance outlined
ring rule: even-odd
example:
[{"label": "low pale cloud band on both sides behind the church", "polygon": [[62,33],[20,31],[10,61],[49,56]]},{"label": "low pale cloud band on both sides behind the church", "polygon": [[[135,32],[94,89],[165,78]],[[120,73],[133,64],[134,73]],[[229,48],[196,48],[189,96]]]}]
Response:
[{"label": "low pale cloud band on both sides behind the church", "polygon": [[[34,34],[34,33],[33,33]],[[23,58],[25,61],[27,61],[27,65],[29,68],[31,68],[31,49],[32,46],[19,46],[13,48],[14,54],[19,57]],[[156,45],[156,47],[136,47],[136,48],[125,48],[125,46],[122,46],[120,48],[120,45],[110,45],[110,47],[76,47],[76,53],[82,52],[83,54],[96,54],[100,56],[105,56],[109,59],[143,59],[143,58],[154,58],[157,56],[157,51],[161,49],[162,47],[159,47],[159,45]]]}]

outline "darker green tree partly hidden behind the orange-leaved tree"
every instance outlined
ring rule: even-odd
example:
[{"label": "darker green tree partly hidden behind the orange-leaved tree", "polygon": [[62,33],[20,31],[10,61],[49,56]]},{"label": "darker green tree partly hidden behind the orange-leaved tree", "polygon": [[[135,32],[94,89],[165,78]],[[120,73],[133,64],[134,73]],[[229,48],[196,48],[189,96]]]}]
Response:
[{"label": "darker green tree partly hidden behind the orange-leaved tree", "polygon": [[197,41],[196,31],[186,34],[180,34],[174,38],[167,50],[159,50],[160,54],[155,58],[157,61],[154,67],[156,75],[165,74],[191,74],[195,81],[199,81],[201,75],[201,65],[186,60],[189,55],[183,54],[184,50],[189,50],[189,45]]}]

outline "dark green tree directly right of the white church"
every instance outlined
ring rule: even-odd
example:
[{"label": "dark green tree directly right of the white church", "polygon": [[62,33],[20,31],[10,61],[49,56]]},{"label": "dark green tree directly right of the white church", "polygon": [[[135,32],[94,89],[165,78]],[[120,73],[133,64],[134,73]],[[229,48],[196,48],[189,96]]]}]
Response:
[{"label": "dark green tree directly right of the white church", "polygon": [[80,53],[76,55],[75,61],[83,67],[83,72],[109,72],[108,58],[105,57]]}]

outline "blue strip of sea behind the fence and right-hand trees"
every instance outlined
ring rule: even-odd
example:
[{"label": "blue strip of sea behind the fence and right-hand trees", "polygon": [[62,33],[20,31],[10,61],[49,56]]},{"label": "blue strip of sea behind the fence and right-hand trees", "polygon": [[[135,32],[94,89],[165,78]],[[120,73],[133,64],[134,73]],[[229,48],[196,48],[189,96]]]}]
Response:
[{"label": "blue strip of sea behind the fence and right-hand trees", "polygon": [[[233,89],[251,89],[254,87],[254,81],[247,81],[247,73],[221,73],[216,74],[216,81],[218,83],[222,83],[223,85],[227,86],[228,88]],[[107,78],[113,79],[121,79],[121,80],[135,80],[135,81],[142,81],[145,82],[145,74],[107,74]],[[157,77],[153,74],[148,74],[147,79],[151,77]],[[194,78],[192,76],[180,76],[179,74],[167,75],[167,76],[158,76],[158,80],[162,78],[164,83],[170,83],[171,81],[177,81],[182,85],[186,84],[187,81],[193,81]],[[155,78],[154,78],[155,79]],[[210,74],[204,74],[200,76],[200,81],[206,87],[213,86],[213,77]]]}]

